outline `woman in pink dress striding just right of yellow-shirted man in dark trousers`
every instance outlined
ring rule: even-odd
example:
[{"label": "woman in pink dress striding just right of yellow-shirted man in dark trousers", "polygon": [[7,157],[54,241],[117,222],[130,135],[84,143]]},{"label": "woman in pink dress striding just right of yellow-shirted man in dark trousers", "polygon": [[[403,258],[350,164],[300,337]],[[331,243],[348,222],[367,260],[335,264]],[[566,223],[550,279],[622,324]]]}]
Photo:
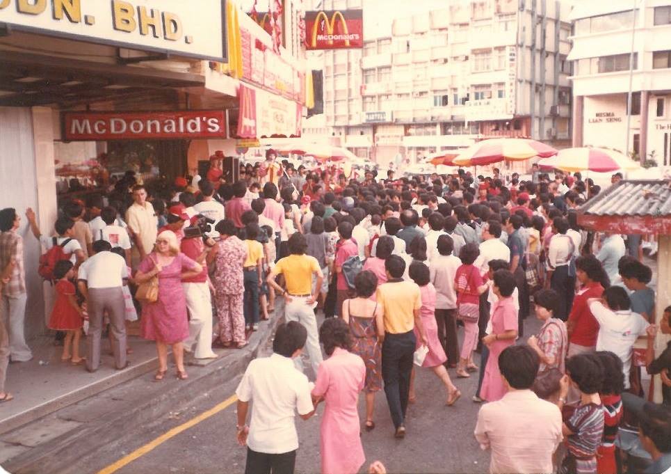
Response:
[{"label": "woman in pink dress striding just right of yellow-shirted man in dark trousers", "polygon": [[[438,323],[436,322],[436,289],[433,283],[430,282],[429,267],[422,262],[412,262],[408,274],[414,283],[419,285],[419,292],[421,293],[421,308],[419,308],[419,317],[421,317],[421,324],[426,333],[427,348],[429,349],[422,363],[422,367],[430,368],[436,374],[445,386],[447,392],[447,399],[445,404],[452,406],[461,396],[461,392],[454,386],[450,379],[450,374],[447,373],[443,365],[447,361],[447,356],[443,349],[440,340],[438,339]],[[414,333],[417,336],[417,349],[421,347],[421,335],[417,330],[417,325],[414,326]],[[414,368],[410,375],[410,396],[408,400],[415,400],[414,396]]]}]

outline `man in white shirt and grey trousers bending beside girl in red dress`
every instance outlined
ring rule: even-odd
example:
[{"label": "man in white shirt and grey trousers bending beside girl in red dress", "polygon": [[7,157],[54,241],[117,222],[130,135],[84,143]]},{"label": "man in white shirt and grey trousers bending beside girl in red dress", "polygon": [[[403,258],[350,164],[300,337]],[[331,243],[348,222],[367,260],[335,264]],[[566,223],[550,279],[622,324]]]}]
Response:
[{"label": "man in white shirt and grey trousers bending beside girl in red dress", "polygon": [[77,286],[86,299],[88,310],[86,369],[89,372],[95,372],[100,365],[100,335],[104,313],[107,313],[110,320],[114,365],[118,370],[128,365],[126,308],[122,290],[124,279],[128,278],[128,267],[124,259],[111,253],[111,250],[109,242],[93,242],[95,255],[81,264],[77,274]]}]

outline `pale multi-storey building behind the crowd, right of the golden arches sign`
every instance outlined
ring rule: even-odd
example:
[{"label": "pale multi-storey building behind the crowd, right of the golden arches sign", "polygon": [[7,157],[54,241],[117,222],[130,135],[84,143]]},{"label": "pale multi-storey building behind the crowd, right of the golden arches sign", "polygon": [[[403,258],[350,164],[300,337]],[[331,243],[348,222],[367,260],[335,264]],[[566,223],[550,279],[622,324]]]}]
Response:
[{"label": "pale multi-storey building behind the crowd, right of the golden arches sign", "polygon": [[364,8],[366,27],[390,18],[364,28],[362,51],[324,55],[325,123],[357,155],[413,162],[498,136],[570,138],[567,4],[452,0],[394,17],[389,3],[320,3]]}]

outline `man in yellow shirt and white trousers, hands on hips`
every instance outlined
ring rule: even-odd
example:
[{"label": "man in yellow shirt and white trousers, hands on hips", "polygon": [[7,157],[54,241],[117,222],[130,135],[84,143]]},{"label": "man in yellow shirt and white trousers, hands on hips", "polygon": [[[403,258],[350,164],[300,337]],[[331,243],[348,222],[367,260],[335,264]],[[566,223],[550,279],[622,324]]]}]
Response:
[{"label": "man in yellow shirt and white trousers, hands on hips", "polygon": [[[284,296],[284,319],[286,319],[286,322],[297,321],[307,329],[305,347],[316,377],[317,368],[323,358],[321,347],[319,347],[314,305],[324,276],[317,259],[305,255],[306,250],[307,240],[305,240],[305,235],[300,232],[291,235],[289,237],[289,252],[291,255],[277,261],[268,275],[268,285],[275,288],[277,294]],[[280,274],[284,275],[286,290],[275,282],[275,277]],[[312,275],[317,278],[314,294],[312,293]],[[296,358],[296,365],[299,370],[302,370],[300,358]]]}]

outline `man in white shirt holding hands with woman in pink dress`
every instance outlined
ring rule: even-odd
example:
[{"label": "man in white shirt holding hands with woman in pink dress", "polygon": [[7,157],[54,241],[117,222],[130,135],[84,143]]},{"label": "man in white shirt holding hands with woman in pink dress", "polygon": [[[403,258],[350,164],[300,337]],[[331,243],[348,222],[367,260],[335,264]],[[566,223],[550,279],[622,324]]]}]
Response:
[{"label": "man in white shirt holding hands with woman in pink dress", "polygon": [[[273,355],[250,362],[236,389],[238,396],[238,443],[247,445],[245,474],[293,473],[298,450],[295,412],[303,420],[314,414],[312,385],[296,369],[307,340],[299,322],[277,326]],[[246,425],[250,400],[252,418]]]}]

